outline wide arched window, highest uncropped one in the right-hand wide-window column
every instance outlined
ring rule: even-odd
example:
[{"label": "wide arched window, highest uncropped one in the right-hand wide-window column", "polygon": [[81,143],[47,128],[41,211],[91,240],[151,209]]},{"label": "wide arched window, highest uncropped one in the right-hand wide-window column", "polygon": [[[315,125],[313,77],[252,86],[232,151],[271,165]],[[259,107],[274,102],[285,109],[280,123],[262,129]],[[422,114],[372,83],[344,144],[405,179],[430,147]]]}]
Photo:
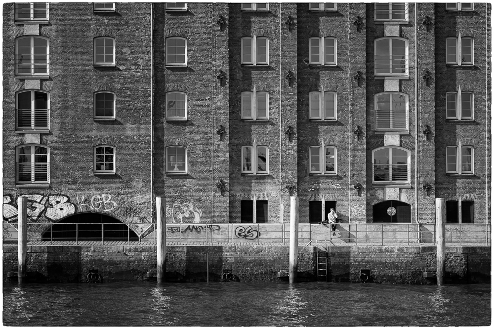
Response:
[{"label": "wide arched window, highest uncropped one in the right-hand wide-window column", "polygon": [[376,76],[408,76],[408,40],[384,37],[374,41]]}]

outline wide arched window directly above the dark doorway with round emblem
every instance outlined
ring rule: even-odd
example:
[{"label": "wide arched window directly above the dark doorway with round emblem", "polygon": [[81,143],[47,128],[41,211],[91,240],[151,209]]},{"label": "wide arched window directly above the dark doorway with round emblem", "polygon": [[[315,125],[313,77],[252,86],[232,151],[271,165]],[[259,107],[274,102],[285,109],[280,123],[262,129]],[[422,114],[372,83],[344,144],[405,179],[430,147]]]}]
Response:
[{"label": "wide arched window directly above the dark doorway with round emblem", "polygon": [[410,184],[410,151],[384,146],[372,151],[372,183]]}]

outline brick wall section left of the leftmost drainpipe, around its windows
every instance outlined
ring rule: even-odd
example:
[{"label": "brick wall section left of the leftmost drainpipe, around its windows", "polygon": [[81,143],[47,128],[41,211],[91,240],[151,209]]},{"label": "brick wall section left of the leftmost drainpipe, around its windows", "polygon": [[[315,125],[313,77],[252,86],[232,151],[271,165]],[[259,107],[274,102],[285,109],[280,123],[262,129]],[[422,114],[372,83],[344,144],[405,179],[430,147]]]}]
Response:
[{"label": "brick wall section left of the leftmost drainpipe, around its windows", "polygon": [[[70,13],[70,17],[68,17]],[[50,3],[49,79],[14,78],[14,3],[3,5],[3,218],[15,222],[17,197],[29,196],[30,222],[56,222],[80,212],[108,214],[124,222],[151,222],[151,7],[116,3],[115,12],[93,12],[92,3]],[[32,25],[38,27],[38,25]],[[93,66],[93,39],[115,38],[115,67]],[[50,187],[15,187],[15,92],[32,82],[50,94]],[[116,95],[115,120],[94,120],[94,92]],[[115,175],[95,175],[94,146],[115,147]],[[6,211],[7,209],[7,211]]]}]

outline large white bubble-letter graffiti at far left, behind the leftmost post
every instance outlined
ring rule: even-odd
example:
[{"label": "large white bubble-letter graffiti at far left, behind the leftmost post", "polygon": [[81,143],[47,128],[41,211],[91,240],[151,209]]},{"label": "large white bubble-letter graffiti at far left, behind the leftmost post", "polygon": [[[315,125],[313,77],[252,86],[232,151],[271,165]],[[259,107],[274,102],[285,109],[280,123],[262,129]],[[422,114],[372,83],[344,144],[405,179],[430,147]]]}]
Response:
[{"label": "large white bubble-letter graffiti at far left, behind the leftmost post", "polygon": [[[69,197],[63,194],[42,196],[41,194],[26,194],[28,221],[37,222],[43,219],[56,222],[65,216],[76,212],[76,206]],[[16,221],[19,210],[12,196],[3,196],[3,220]]]}]

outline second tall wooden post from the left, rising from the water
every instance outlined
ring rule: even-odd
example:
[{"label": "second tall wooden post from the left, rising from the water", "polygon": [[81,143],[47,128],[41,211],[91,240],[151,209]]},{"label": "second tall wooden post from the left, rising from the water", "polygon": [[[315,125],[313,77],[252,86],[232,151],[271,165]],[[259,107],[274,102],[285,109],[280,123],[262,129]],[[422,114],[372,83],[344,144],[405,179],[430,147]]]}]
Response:
[{"label": "second tall wooden post from the left, rising from the water", "polygon": [[156,197],[156,248],[157,248],[157,281],[165,282],[166,275],[166,200]]}]

